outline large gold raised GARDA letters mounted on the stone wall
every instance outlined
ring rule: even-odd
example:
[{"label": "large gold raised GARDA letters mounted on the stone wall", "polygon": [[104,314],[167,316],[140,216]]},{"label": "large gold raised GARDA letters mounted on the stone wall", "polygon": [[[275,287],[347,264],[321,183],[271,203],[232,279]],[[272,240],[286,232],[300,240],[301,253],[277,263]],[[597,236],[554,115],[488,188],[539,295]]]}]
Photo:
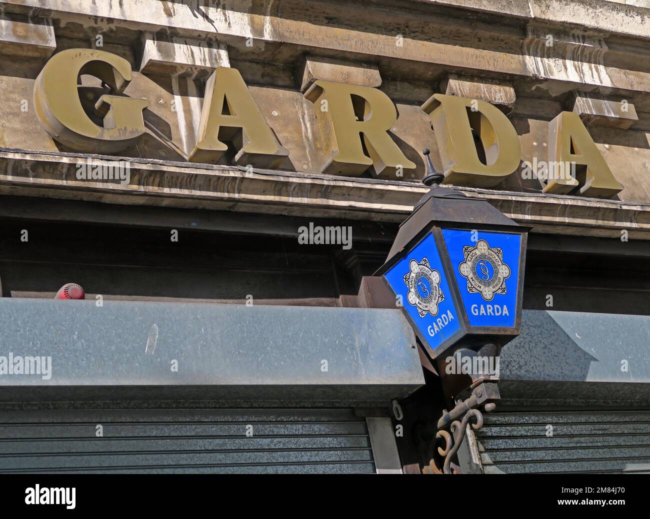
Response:
[{"label": "large gold raised GARDA letters mounted on the stone wall", "polygon": [[[79,97],[77,83],[82,75],[101,80],[102,94],[97,92],[99,97],[92,102],[85,98],[82,103]],[[145,125],[149,100],[125,95],[134,78],[131,62],[121,56],[99,49],[64,49],[49,59],[34,82],[36,117],[52,139],[77,152],[125,152],[150,131]],[[417,168],[391,136],[398,113],[382,90],[316,80],[304,97],[313,103],[322,135],[317,146],[328,157],[318,165],[320,173],[357,177],[369,172],[399,180],[404,170]],[[362,120],[359,107],[365,114]],[[482,100],[434,94],[421,109],[434,129],[444,183],[496,187],[519,169],[519,136],[497,107]],[[194,163],[279,168],[291,152],[268,125],[239,71],[224,66],[216,68],[205,83],[196,137],[187,155]],[[479,156],[476,138],[489,150],[489,164]],[[558,166],[539,172],[545,182],[543,193],[610,198],[623,190],[577,113],[564,111],[549,123],[548,153],[545,162]],[[524,164],[530,173],[531,163]],[[575,174],[575,166],[586,174]]]}]

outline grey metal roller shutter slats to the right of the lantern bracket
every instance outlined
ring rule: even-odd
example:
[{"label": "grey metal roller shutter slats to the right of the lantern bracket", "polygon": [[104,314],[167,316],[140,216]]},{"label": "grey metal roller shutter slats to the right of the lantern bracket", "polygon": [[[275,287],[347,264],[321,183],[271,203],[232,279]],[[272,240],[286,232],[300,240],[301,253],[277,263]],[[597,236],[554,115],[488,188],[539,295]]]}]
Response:
[{"label": "grey metal roller shutter slats to the right of the lantern bracket", "polygon": [[497,412],[484,419],[474,433],[484,473],[650,472],[647,410]]}]

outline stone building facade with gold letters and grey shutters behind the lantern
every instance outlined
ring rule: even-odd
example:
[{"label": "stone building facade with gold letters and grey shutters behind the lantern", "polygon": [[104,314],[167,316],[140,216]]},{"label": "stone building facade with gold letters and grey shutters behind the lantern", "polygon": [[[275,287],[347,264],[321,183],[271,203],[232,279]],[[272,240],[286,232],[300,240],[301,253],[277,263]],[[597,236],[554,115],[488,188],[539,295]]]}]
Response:
[{"label": "stone building facade with gold letters and grey shutters behind the lantern", "polygon": [[[62,464],[16,442],[38,456],[0,470],[436,472],[467,388],[372,277],[428,192],[425,148],[447,187],[530,227],[521,336],[456,470],[649,470],[650,3],[0,8],[0,355],[52,360],[0,375],[0,433],[183,438]],[[85,302],[50,300],[68,282]],[[209,455],[197,421],[220,428]]]}]

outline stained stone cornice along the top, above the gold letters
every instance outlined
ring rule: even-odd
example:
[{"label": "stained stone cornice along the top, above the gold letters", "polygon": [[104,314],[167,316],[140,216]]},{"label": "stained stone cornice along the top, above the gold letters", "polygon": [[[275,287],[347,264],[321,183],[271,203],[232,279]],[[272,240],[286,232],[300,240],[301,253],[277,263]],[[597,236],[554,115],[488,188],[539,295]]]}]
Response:
[{"label": "stained stone cornice along the top, above the gold letters", "polygon": [[[632,40],[645,45],[650,38],[650,9],[609,1],[411,0],[369,6],[304,0],[225,5],[151,0],[144,12],[135,0],[16,0],[0,5],[5,10],[46,14],[59,19],[61,27],[92,27],[107,34],[120,29],[191,38],[218,35],[224,44],[238,46],[242,59],[253,61],[284,54],[287,63],[293,62],[291,52],[277,53],[283,46],[298,53],[345,52],[373,60],[399,60],[398,70],[417,81],[427,81],[426,72],[465,70],[548,81],[551,85],[541,88],[551,95],[582,85],[590,90],[650,92],[650,73],[630,66],[639,59],[634,56],[638,52],[624,46],[626,50],[617,49],[615,56],[603,40],[620,36],[626,45]],[[489,21],[480,19],[486,16]],[[536,27],[535,34],[547,25],[561,25],[577,34],[560,37],[556,47],[547,47],[545,31],[539,33],[542,38],[527,34],[528,24]],[[398,33],[403,37],[400,46]],[[243,42],[249,39],[256,44],[247,51]],[[469,44],[490,41],[476,47]],[[406,62],[412,63],[405,68]],[[419,64],[441,70],[424,71]]]}]

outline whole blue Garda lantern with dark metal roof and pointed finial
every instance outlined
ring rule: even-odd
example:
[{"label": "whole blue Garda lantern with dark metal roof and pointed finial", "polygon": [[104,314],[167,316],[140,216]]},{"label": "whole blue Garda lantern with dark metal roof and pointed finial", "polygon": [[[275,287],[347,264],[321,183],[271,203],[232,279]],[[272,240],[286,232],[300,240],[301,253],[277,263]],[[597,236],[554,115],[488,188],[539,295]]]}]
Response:
[{"label": "whole blue Garda lantern with dark metal roof and pointed finial", "polygon": [[478,350],[519,334],[528,228],[486,200],[440,187],[427,156],[429,193],[401,225],[376,275],[395,294],[436,358],[454,345]]}]

